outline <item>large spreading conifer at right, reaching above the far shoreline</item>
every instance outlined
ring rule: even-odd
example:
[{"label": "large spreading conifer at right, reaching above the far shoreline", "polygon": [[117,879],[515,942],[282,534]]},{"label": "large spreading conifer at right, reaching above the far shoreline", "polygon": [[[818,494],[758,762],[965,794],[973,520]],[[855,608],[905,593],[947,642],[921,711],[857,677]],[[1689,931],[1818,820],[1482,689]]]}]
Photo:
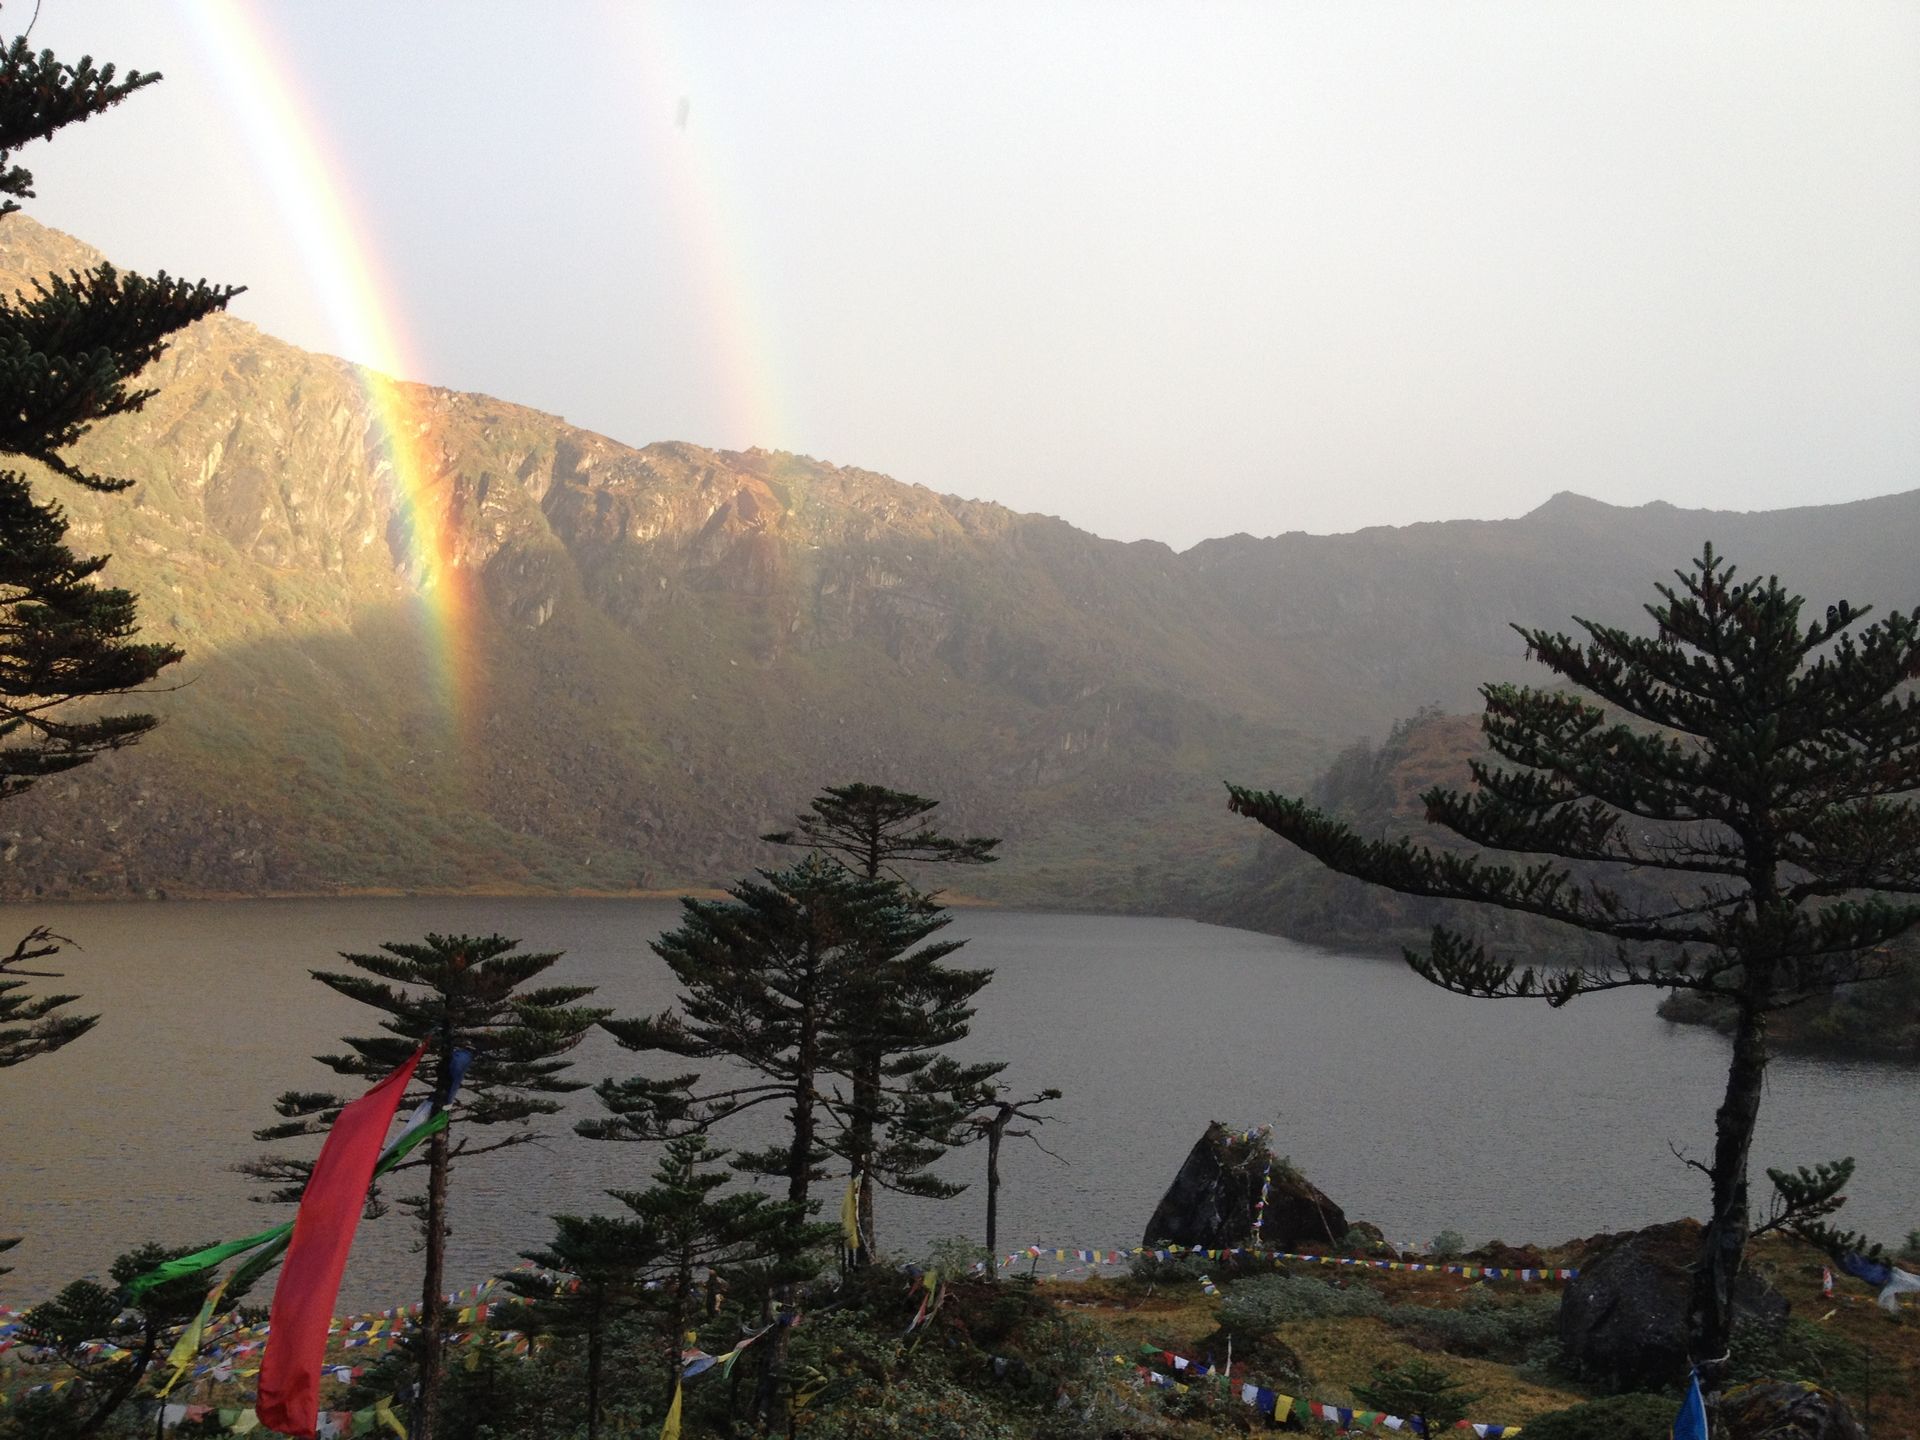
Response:
[{"label": "large spreading conifer at right, reaching above the far shoreline", "polygon": [[1473,845],[1373,841],[1306,801],[1229,785],[1231,808],[1346,876],[1407,895],[1555,920],[1613,945],[1565,970],[1500,962],[1446,925],[1413,970],[1459,995],[1544,996],[1647,985],[1732,1006],[1726,1092],[1703,1169],[1711,1213],[1693,1267],[1690,1340],[1703,1375],[1728,1354],[1747,1242],[1747,1158],[1768,1018],[1884,979],[1887,943],[1920,922],[1920,618],[1845,601],[1801,624],[1776,578],[1738,582],[1705,547],[1657,586],[1653,634],[1576,620],[1584,639],[1519,628],[1569,685],[1486,685],[1482,730],[1507,764],[1469,793],[1432,789],[1427,818]]}]

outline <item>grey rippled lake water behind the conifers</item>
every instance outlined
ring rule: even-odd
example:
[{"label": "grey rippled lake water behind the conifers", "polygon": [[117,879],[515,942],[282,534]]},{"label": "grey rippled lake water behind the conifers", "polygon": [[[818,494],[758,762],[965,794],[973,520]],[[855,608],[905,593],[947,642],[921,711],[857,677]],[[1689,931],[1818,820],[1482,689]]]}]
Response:
[{"label": "grey rippled lake water behind the conifers", "polygon": [[[647,941],[678,906],[624,900],[246,900],[13,906],[13,935],[50,924],[84,945],[61,989],[102,1021],[84,1041],[0,1069],[0,1300],[44,1296],[102,1273],[146,1238],[209,1242],[288,1215],[250,1202],[228,1167],[273,1096],[324,1089],[311,1056],[363,1033],[371,1010],[309,979],[342,948],[426,931],[522,937],[566,950],[559,979],[599,985],[620,1014],[664,1008],[672,977]],[[960,912],[962,960],[993,966],[972,1052],[1010,1060],[1020,1087],[1058,1087],[1054,1162],[1010,1144],[1002,1242],[1137,1244],[1162,1188],[1208,1119],[1273,1123],[1348,1215],[1394,1238],[1440,1229],[1469,1240],[1557,1240],[1703,1206],[1668,1142],[1707,1156],[1726,1044],[1655,1018],[1647,995],[1596,995],[1567,1010],[1465,1000],[1398,964],[1313,950],[1181,920]],[[52,981],[36,981],[48,987]],[[603,1035],[578,1073],[630,1073]],[[449,1283],[470,1283],[541,1244],[547,1215],[612,1208],[641,1187],[651,1146],[591,1144],[570,1117],[551,1139],[455,1177]],[[726,1142],[756,1139],[743,1133]],[[1857,1156],[1843,1219],[1880,1238],[1920,1225],[1920,1075],[1870,1064],[1772,1068],[1763,1165]],[[983,1158],[952,1173],[973,1179]],[[1759,1181],[1764,1188],[1764,1179]],[[979,1187],[950,1202],[881,1200],[881,1244],[977,1236]],[[344,1302],[415,1298],[411,1233],[396,1210],[365,1225]]]}]

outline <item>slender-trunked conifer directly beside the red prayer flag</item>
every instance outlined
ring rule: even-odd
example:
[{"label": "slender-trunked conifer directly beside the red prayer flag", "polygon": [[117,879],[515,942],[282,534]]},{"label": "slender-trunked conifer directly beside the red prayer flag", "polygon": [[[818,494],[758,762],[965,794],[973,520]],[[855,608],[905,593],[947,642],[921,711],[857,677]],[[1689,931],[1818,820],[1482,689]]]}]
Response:
[{"label": "slender-trunked conifer directly beside the red prayer flag", "polygon": [[[348,1037],[346,1054],[317,1056],[340,1075],[378,1079],[392,1073],[420,1044],[426,1054],[401,1106],[451,1100],[451,1123],[436,1131],[426,1150],[426,1194],[413,1202],[420,1221],[420,1384],[409,1432],[432,1440],[440,1398],[442,1336],[445,1332],[447,1183],[453,1164],[541,1139],[528,1129],[557,1114],[555,1096],[586,1089],[566,1079],[566,1054],[607,1018],[607,1010],[578,1004],[591,985],[526,989],[561,958],[532,954],[501,935],[428,935],[419,945],[388,943],[376,954],[342,954],[351,972],[311,972],[328,989],[384,1014],[378,1035]],[[470,1056],[470,1064],[468,1058]],[[463,1073],[465,1068],[465,1073]],[[457,1089],[455,1089],[457,1087]],[[282,1125],[255,1131],[259,1140],[321,1135],[351,1096],[288,1091],[275,1108]],[[509,1129],[476,1139],[468,1127]],[[401,1165],[405,1169],[409,1165]],[[294,1202],[311,1165],[271,1156],[240,1167],[273,1185],[267,1196]]]}]

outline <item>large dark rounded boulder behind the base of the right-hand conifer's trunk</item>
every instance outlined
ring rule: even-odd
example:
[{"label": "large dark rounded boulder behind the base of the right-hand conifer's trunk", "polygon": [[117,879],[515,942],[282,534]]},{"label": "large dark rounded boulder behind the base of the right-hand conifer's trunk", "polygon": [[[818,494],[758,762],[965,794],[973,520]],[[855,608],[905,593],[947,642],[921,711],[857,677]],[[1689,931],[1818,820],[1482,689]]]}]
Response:
[{"label": "large dark rounded boulder behind the base of the right-hand conifer's trunk", "polygon": [[[1699,1221],[1619,1235],[1567,1284],[1559,1338],[1572,1367],[1615,1390],[1670,1390],[1686,1380],[1688,1292]],[[1734,1286],[1736,1319],[1778,1325],[1786,1298],[1751,1271]]]}]

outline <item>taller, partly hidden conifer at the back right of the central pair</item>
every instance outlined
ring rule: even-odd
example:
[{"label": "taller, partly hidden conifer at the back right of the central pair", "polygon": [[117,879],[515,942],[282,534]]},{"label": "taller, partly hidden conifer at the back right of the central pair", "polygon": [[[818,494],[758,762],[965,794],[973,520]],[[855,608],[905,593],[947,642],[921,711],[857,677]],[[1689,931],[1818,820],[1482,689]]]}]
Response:
[{"label": "taller, partly hidden conifer at the back right of the central pair", "polygon": [[[887,789],[854,781],[851,785],[828,785],[808,801],[806,814],[795,816],[793,829],[780,829],[760,839],[770,845],[795,845],[828,854],[868,879],[891,877],[902,891],[910,885],[900,872],[900,864],[993,864],[993,852],[1000,841],[987,835],[945,835],[931,812],[939,801],[925,795]],[[922,904],[939,910],[933,897],[922,897]],[[925,1156],[920,1169],[931,1164],[941,1150],[956,1142],[956,1125],[964,1123],[966,1112],[981,1098],[970,1085],[985,1081],[998,1066],[956,1073],[956,1087],[945,1096],[922,1079],[918,1092],[929,1127],[916,1135],[895,1123],[891,1137],[881,1139],[887,1123],[883,1102],[883,1073],[895,1079],[910,1071],[895,1071],[895,1066],[908,1064],[924,1068],[933,1050],[939,1050],[968,1033],[973,1012],[966,1002],[989,981],[987,970],[948,970],[931,960],[914,960],[908,966],[889,970],[876,962],[870,972],[872,998],[860,1006],[862,1012],[879,1006],[895,1006],[899,1014],[874,1027],[872,1043],[856,1044],[852,1062],[851,1110],[847,1123],[847,1156],[860,1187],[858,1190],[858,1231],[866,1244],[860,1254],[870,1254],[876,1236],[874,1192],[876,1185],[889,1171],[899,1173],[904,1152],[918,1146]],[[918,1041],[891,1044],[891,1035],[918,1029]],[[891,1158],[881,1158],[883,1144],[897,1150]],[[925,1190],[912,1190],[925,1194]]]}]

